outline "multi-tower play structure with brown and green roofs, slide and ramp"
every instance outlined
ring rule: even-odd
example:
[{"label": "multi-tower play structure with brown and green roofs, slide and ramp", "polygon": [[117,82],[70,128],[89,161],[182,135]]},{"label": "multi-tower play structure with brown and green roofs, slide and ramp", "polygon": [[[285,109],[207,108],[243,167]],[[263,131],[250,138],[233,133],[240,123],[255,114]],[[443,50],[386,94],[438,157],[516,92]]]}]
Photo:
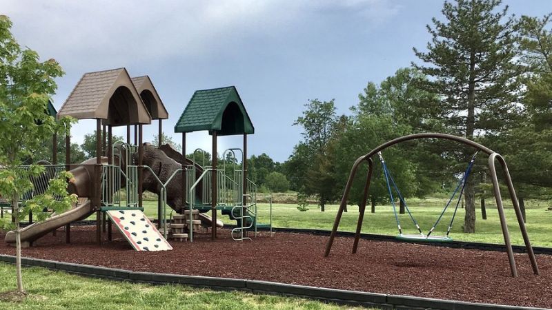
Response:
[{"label": "multi-tower play structure with brown and green roofs, slide and ramp", "polygon": [[[92,214],[96,214],[99,245],[104,240],[103,232],[107,231],[107,239],[112,239],[112,223],[115,223],[137,250],[170,249],[161,239],[170,236],[172,218],[175,219],[173,228],[179,229],[175,231],[175,240],[193,241],[194,228],[199,230],[198,222],[210,228],[211,238],[215,239],[217,227],[223,226],[217,220],[217,210],[237,220],[237,227],[232,230],[234,240],[250,239],[248,229],[256,232],[256,185],[247,178],[246,162],[247,135],[255,130],[235,87],[195,92],[175,126],[175,132],[182,133],[181,153],[170,145],[162,145],[162,120],[168,118],[168,113],[151,80],[148,76],[130,78],[125,68],[84,74],[57,113],[57,117],[61,116],[96,120],[96,156],[81,164],[57,165],[54,137],[54,160],[46,170],[72,172],[75,181],[70,183],[68,192],[77,194],[79,203],[70,211],[24,228],[23,245],[32,245],[34,240],[63,226],[66,242],[70,242],[70,223]],[[159,120],[159,148],[143,143],[143,125],[152,120]],[[116,126],[126,126],[126,141],[112,141],[112,127]],[[132,127],[134,141],[131,141]],[[210,165],[199,165],[195,158],[186,158],[186,133],[197,130],[208,130],[213,136]],[[233,169],[227,173],[230,169],[226,169],[226,161],[222,169],[217,167],[217,136],[233,134],[243,134],[244,148],[223,153],[233,158]],[[70,163],[70,134],[66,136],[66,163]],[[46,175],[45,178],[48,179]],[[41,186],[48,186],[47,182]],[[38,194],[37,185],[35,189]],[[145,189],[159,196],[157,227],[160,231],[142,213]],[[121,191],[126,198],[121,199]],[[170,213],[166,205],[172,208]],[[209,210],[211,216],[204,214]],[[197,215],[188,216],[186,223],[182,223],[181,214]],[[186,226],[188,234],[182,231]],[[13,243],[13,235],[8,233],[6,242]],[[148,243],[150,239],[157,243]]]}]

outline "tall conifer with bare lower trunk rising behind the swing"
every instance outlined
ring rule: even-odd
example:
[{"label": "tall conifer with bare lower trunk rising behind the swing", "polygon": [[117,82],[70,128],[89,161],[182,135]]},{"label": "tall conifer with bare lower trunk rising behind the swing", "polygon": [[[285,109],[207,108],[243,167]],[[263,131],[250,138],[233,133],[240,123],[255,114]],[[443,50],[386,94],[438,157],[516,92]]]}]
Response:
[{"label": "tall conifer with bare lower trunk rising behind the swing", "polygon": [[[433,27],[427,26],[432,36],[428,51],[413,49],[428,64],[413,66],[431,76],[420,87],[439,95],[433,117],[450,133],[473,139],[483,133],[498,134],[517,121],[517,77],[522,66],[515,63],[517,25],[507,12],[507,6],[500,8],[500,0],[446,1],[445,21],[433,18]],[[469,152],[462,154],[464,161]],[[464,191],[467,233],[475,231],[473,180]]]}]

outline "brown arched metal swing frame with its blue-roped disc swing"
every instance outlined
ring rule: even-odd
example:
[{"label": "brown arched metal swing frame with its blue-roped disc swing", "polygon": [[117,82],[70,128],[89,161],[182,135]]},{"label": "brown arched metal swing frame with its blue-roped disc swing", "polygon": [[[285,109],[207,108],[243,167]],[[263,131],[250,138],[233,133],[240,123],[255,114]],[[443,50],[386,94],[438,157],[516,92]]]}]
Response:
[{"label": "brown arched metal swing frame with its blue-roped disc swing", "polygon": [[[498,209],[498,214],[499,214],[499,217],[500,217],[500,225],[502,227],[502,234],[504,236],[504,243],[506,245],[506,252],[508,254],[508,260],[509,260],[509,263],[510,263],[511,274],[515,278],[515,277],[517,277],[517,267],[515,265],[515,258],[513,256],[513,250],[512,250],[512,245],[511,245],[511,242],[510,242],[508,226],[506,225],[506,216],[504,216],[504,205],[502,204],[502,195],[500,194],[500,187],[499,187],[499,183],[498,183],[497,171],[496,171],[496,165],[495,165],[496,161],[498,161],[500,163],[500,165],[502,167],[502,170],[504,172],[504,178],[506,180],[506,186],[508,187],[508,192],[509,192],[510,198],[512,200],[514,210],[515,210],[515,216],[517,218],[517,223],[520,226],[520,231],[522,233],[522,237],[523,237],[523,240],[524,240],[524,244],[525,244],[525,247],[526,247],[526,252],[529,255],[529,260],[531,261],[531,267],[533,268],[533,273],[539,274],[539,268],[538,268],[537,260],[535,258],[535,254],[533,252],[533,247],[531,247],[531,242],[529,241],[529,235],[527,234],[525,223],[524,223],[524,220],[523,220],[523,217],[522,217],[522,211],[520,209],[520,205],[519,205],[519,202],[517,200],[517,196],[515,194],[515,189],[513,187],[513,183],[512,183],[511,177],[510,177],[510,172],[508,170],[508,166],[506,165],[506,161],[504,161],[504,158],[500,154],[494,152],[493,150],[489,149],[488,147],[485,147],[484,145],[481,145],[479,143],[475,143],[475,142],[473,142],[469,139],[466,139],[466,138],[453,136],[451,134],[424,133],[424,134],[411,134],[411,135],[408,135],[408,136],[402,136],[400,138],[395,138],[391,141],[388,141],[388,142],[376,147],[375,149],[371,150],[370,152],[368,152],[368,154],[366,154],[364,156],[360,156],[359,158],[357,158],[357,160],[353,164],[353,167],[351,168],[351,173],[349,174],[349,177],[348,177],[345,189],[344,189],[344,194],[342,196],[341,203],[339,204],[339,210],[337,211],[337,215],[335,216],[335,221],[334,221],[333,228],[332,228],[332,231],[331,231],[331,234],[330,234],[330,238],[328,239],[328,242],[326,244],[326,250],[325,250],[324,256],[327,257],[330,254],[330,251],[331,251],[331,248],[332,248],[332,245],[333,245],[333,240],[335,239],[335,236],[337,234],[337,228],[339,227],[339,222],[341,220],[341,217],[343,215],[343,211],[344,211],[344,209],[346,207],[346,204],[347,204],[348,194],[351,190],[351,186],[353,185],[353,179],[355,178],[355,174],[357,173],[357,170],[358,170],[359,166],[362,163],[367,163],[368,164],[368,174],[366,175],[366,181],[364,183],[364,194],[363,194],[364,197],[362,199],[362,203],[359,205],[359,217],[358,217],[358,220],[357,220],[357,229],[356,229],[356,232],[355,232],[355,239],[354,239],[354,242],[353,242],[353,254],[355,254],[357,252],[357,247],[358,247],[358,242],[359,242],[359,237],[360,237],[360,231],[362,230],[362,221],[364,219],[364,211],[366,209],[366,200],[368,198],[368,192],[369,192],[369,189],[370,189],[370,183],[371,183],[372,172],[373,172],[373,159],[372,159],[373,156],[379,156],[380,157],[380,161],[382,161],[382,165],[384,167],[384,176],[386,177],[387,180],[391,180],[389,178],[388,170],[386,169],[384,159],[381,156],[381,152],[384,149],[386,149],[388,147],[391,147],[391,146],[393,146],[397,143],[401,143],[401,142],[404,142],[404,141],[411,141],[411,140],[415,140],[415,139],[422,139],[422,138],[446,139],[446,140],[450,140],[450,141],[455,141],[457,143],[463,143],[464,145],[468,145],[469,147],[475,148],[477,150],[477,152],[483,152],[483,153],[489,155],[489,161],[488,162],[489,162],[489,169],[490,169],[490,172],[491,172],[491,180],[492,180],[492,183],[493,183],[493,194],[495,196],[496,205],[497,205],[497,209]],[[475,157],[475,155],[474,155],[474,157]],[[461,181],[460,184],[463,184],[464,181],[466,180],[467,176],[469,175],[471,165],[473,165],[473,159],[474,158],[472,158],[472,161],[471,161],[470,165],[466,169],[466,173],[464,174],[464,177],[462,178],[462,181]],[[392,183],[394,184],[393,181],[392,181]],[[459,187],[460,187],[460,185],[459,185]],[[457,189],[458,189],[458,187],[457,187]],[[394,201],[393,201],[393,194],[391,194],[391,186],[388,186],[388,190],[390,192],[391,201],[393,203],[393,209],[395,209],[395,205],[394,205]],[[397,192],[399,192],[398,189],[397,189]],[[399,196],[400,196],[400,194],[399,194]],[[402,199],[402,197],[401,197],[401,199]],[[451,197],[451,200],[452,199],[453,199],[453,197]],[[449,200],[449,203],[450,203],[451,200]],[[446,207],[448,207],[448,204],[447,204]],[[445,210],[446,210],[446,207],[445,207]],[[442,214],[444,213],[445,210],[443,210]],[[408,214],[411,216],[410,211],[408,211]],[[396,213],[395,213],[395,216],[396,216]],[[415,223],[415,220],[413,220],[413,221]],[[437,220],[437,223],[438,223],[438,221],[439,220]],[[435,223],[435,225],[437,225],[437,223]],[[401,238],[402,240],[413,240],[413,241],[424,241],[424,240],[426,240],[426,241],[447,241],[448,240],[447,239],[448,238],[448,233],[447,233],[446,238],[445,237],[441,237],[441,238],[433,237],[433,238],[431,238],[430,234],[431,234],[431,231],[433,231],[433,229],[430,231],[430,233],[428,235],[423,236],[422,230],[417,225],[417,223],[415,223],[415,225],[416,225],[417,229],[420,231],[420,236],[417,236],[417,235],[416,236],[402,235],[402,231],[401,231],[400,223],[398,222],[398,218],[397,218],[397,225],[399,227],[399,232],[400,232],[400,235],[398,237]],[[435,227],[435,225],[433,227]],[[451,225],[452,225],[452,222],[451,222]],[[450,225],[449,225],[449,229],[450,229]]]}]

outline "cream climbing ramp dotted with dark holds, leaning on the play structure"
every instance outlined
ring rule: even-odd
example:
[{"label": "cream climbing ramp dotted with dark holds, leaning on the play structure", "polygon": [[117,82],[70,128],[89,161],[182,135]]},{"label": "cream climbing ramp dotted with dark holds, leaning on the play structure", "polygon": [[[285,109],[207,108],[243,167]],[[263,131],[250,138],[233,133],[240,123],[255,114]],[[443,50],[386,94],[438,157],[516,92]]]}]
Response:
[{"label": "cream climbing ramp dotted with dark holds, leaning on the play structure", "polygon": [[137,251],[172,250],[167,240],[140,210],[106,211],[126,240]]}]

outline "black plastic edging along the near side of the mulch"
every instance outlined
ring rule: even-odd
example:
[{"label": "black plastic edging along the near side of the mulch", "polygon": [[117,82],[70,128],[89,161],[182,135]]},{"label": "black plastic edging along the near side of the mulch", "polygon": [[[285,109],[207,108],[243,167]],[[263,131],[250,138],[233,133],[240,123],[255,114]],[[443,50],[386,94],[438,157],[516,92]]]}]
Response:
[{"label": "black plastic edging along the near side of the mulch", "polygon": [[[15,256],[0,255],[0,262],[15,263]],[[544,310],[544,308],[528,308],[506,306],[502,304],[483,304],[475,302],[461,302],[435,298],[415,296],[387,295],[382,293],[368,293],[364,291],[348,291],[345,289],[328,289],[324,287],[308,287],[304,285],[289,285],[278,282],[259,280],[215,278],[205,276],[185,276],[169,273],[152,273],[130,271],[91,265],[42,260],[39,258],[21,258],[21,265],[45,267],[48,269],[77,273],[92,278],[107,278],[128,282],[147,282],[152,284],[178,284],[209,289],[230,291],[247,291],[250,293],[266,293],[283,296],[295,296],[337,304],[359,304],[382,309],[443,309],[443,310]]]}]

